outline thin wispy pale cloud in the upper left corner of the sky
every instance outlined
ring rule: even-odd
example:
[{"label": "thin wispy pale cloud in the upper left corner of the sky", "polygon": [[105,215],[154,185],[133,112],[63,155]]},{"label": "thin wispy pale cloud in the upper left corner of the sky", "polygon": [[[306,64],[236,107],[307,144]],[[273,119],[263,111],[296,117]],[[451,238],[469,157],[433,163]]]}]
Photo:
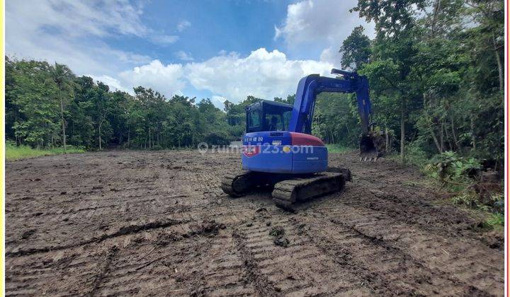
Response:
[{"label": "thin wispy pale cloud in the upper left corner of the sky", "polygon": [[152,59],[145,54],[115,50],[106,37],[131,35],[173,42],[141,21],[142,8],[124,0],[8,1],[6,54],[67,64],[78,75],[112,76]]}]

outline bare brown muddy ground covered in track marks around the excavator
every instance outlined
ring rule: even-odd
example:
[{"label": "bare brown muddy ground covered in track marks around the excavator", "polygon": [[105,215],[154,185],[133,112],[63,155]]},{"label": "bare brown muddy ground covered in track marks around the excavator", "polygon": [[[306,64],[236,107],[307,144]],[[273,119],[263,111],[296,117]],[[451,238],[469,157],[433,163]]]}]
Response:
[{"label": "bare brown muddy ground covered in track marks around the excavator", "polygon": [[240,164],[233,153],[7,162],[6,293],[503,295],[502,238],[438,203],[416,170],[330,159],[353,182],[294,214],[267,192],[223,194],[220,177]]}]

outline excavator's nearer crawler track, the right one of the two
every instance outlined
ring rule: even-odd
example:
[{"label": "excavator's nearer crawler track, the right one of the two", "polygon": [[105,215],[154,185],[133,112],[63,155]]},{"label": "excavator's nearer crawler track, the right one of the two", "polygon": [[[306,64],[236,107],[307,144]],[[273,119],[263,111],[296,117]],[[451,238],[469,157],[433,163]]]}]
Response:
[{"label": "excavator's nearer crawler track, the right one of the two", "polygon": [[276,183],[273,201],[276,206],[293,210],[293,205],[314,197],[339,192],[344,188],[346,178],[343,173],[318,173],[310,177],[300,177]]}]

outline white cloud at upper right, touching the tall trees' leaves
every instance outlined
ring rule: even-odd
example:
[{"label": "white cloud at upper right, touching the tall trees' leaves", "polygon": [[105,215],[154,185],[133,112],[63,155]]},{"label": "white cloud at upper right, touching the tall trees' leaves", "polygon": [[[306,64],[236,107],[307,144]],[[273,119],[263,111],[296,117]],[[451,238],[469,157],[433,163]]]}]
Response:
[{"label": "white cloud at upper right, touching the tall trees' leaves", "polygon": [[275,26],[274,37],[282,38],[289,47],[324,45],[321,60],[338,65],[341,42],[353,28],[363,25],[368,37],[375,35],[373,23],[349,12],[356,4],[355,0],[305,0],[290,4],[283,25]]}]

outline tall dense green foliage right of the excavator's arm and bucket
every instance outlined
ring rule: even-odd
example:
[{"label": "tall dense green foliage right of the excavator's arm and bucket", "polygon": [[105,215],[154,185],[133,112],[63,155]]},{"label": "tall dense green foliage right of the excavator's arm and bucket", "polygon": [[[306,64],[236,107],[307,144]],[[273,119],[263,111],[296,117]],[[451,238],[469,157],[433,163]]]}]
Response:
[{"label": "tall dense green foliage right of the excavator's arm and bucket", "polygon": [[455,151],[495,159],[501,170],[504,2],[359,0],[353,11],[375,22],[376,37],[367,50],[355,28],[342,64],[370,52],[356,68],[370,81],[373,121],[401,132],[402,161]]}]

